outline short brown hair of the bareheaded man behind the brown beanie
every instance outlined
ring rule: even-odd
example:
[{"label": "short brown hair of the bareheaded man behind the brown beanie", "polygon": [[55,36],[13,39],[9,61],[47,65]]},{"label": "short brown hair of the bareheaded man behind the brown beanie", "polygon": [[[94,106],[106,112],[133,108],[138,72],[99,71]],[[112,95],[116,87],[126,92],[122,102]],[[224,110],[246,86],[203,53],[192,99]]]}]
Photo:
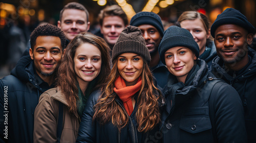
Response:
[{"label": "short brown hair of the bareheaded man behind the brown beanie", "polygon": [[128,18],[125,12],[118,5],[106,6],[102,9],[98,15],[100,26],[102,26],[104,17],[108,16],[119,16],[122,18],[124,26],[128,25]]}]

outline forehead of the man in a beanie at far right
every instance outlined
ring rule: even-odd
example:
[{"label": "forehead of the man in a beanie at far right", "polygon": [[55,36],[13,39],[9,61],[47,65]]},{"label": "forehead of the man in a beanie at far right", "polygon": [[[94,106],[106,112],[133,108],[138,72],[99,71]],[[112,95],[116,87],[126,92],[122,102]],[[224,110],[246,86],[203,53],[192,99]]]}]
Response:
[{"label": "forehead of the man in a beanie at far right", "polygon": [[218,34],[224,34],[225,35],[225,34],[231,34],[231,33],[237,33],[237,32],[239,32],[243,35],[248,34],[248,32],[244,28],[242,28],[238,25],[225,24],[225,25],[219,26],[216,29],[215,36],[218,35]]}]

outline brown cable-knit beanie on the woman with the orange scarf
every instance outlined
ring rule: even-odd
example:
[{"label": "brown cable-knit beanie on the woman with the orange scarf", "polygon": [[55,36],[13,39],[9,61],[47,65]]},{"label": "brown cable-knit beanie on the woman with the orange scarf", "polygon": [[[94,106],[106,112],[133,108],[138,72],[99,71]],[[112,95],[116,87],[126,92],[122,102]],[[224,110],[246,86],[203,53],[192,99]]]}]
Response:
[{"label": "brown cable-knit beanie on the woman with the orange scarf", "polygon": [[150,63],[150,52],[138,27],[128,26],[121,33],[113,47],[112,62],[123,53],[135,53]]}]

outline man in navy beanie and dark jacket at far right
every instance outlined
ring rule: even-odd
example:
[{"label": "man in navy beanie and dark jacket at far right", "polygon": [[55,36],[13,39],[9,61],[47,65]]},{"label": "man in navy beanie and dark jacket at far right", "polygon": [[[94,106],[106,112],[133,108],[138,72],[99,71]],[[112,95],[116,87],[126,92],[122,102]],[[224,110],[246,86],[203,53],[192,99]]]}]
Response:
[{"label": "man in navy beanie and dark jacket at far right", "polygon": [[248,142],[256,142],[256,52],[248,46],[255,28],[241,12],[228,8],[217,16],[210,33],[218,54],[210,70],[238,91]]}]

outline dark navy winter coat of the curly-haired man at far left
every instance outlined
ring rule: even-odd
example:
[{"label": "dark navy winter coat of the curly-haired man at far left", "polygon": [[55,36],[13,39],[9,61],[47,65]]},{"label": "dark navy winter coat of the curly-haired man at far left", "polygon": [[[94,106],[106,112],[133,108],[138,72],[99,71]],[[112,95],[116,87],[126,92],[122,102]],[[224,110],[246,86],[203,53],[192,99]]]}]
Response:
[{"label": "dark navy winter coat of the curly-haired man at far left", "polygon": [[[8,142],[33,142],[34,110],[39,96],[47,90],[39,86],[44,81],[34,73],[33,60],[25,56],[11,75],[0,80],[0,142],[7,141],[7,135]],[[8,120],[2,114],[7,114]]]}]

